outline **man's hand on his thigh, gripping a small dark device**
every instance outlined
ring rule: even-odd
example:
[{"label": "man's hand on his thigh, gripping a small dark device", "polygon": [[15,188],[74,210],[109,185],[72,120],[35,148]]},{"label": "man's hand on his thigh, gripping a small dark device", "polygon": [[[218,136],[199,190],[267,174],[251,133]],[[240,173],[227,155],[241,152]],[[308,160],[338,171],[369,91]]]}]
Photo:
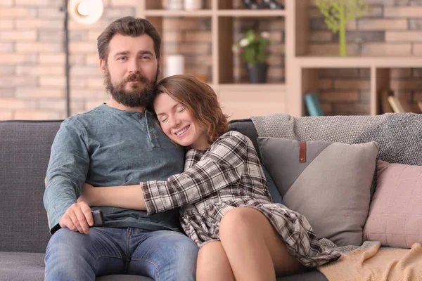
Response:
[{"label": "man's hand on his thigh, gripping a small dark device", "polygon": [[61,228],[69,228],[79,233],[89,233],[89,226],[94,225],[91,208],[85,202],[72,204],[58,222]]}]

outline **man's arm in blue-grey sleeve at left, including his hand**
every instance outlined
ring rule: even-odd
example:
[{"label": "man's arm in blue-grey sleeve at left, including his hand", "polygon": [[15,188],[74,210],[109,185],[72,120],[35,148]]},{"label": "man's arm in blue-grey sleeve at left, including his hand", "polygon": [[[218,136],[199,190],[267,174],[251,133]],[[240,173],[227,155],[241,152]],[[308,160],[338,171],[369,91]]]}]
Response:
[{"label": "man's arm in blue-grey sleeve at left, including his hand", "polygon": [[56,134],[46,174],[44,207],[50,218],[50,233],[59,228],[89,232],[91,209],[77,203],[80,187],[87,178],[89,153],[87,132],[76,120],[65,120]]}]

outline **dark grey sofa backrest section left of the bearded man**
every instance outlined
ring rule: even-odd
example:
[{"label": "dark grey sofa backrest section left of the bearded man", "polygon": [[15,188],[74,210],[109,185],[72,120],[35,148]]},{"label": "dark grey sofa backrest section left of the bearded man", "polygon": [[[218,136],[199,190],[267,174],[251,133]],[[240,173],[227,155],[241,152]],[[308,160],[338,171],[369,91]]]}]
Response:
[{"label": "dark grey sofa backrest section left of the bearded man", "polygon": [[45,252],[44,178],[61,122],[0,122],[0,251]]}]

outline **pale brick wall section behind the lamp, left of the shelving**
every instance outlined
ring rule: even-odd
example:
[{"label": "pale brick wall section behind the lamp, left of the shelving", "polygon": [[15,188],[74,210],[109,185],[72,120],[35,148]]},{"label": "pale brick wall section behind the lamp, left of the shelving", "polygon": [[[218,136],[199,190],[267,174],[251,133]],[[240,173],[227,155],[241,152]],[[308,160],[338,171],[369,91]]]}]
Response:
[{"label": "pale brick wall section behind the lamp, left of the shelving", "polygon": [[[70,109],[85,112],[108,100],[96,38],[116,18],[135,15],[135,0],[103,0],[94,25],[69,21]],[[66,117],[63,0],[0,1],[0,119]]]}]

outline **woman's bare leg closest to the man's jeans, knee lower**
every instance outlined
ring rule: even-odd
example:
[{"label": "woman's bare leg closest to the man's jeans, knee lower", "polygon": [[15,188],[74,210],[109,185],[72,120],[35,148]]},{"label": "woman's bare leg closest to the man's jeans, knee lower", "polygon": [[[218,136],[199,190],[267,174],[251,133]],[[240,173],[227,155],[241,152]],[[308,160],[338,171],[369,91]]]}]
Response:
[{"label": "woman's bare leg closest to the man's jeans, knee lower", "polygon": [[196,265],[196,281],[234,281],[229,259],[222,242],[208,242],[200,248]]}]

